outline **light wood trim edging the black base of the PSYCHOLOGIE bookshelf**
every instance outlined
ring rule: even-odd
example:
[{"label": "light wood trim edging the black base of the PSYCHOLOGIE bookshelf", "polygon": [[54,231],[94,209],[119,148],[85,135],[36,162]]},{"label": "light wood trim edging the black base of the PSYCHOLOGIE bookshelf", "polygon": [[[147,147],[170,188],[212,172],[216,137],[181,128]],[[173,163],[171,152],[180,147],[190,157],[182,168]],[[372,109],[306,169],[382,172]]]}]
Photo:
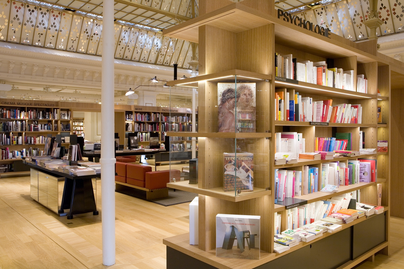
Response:
[{"label": "light wood trim edging the black base of the PSYCHOLOGIE bookshelf", "polygon": [[[381,213],[383,214],[383,213]],[[372,218],[374,215],[370,216],[369,218],[366,218],[366,216],[363,216],[360,219],[356,219],[355,221],[348,223],[348,224],[342,224],[342,229],[339,231],[342,231],[344,229],[347,229],[351,227],[352,225],[358,224],[362,221],[366,221],[367,219]],[[338,233],[339,231],[335,232]],[[194,257],[204,263],[208,263],[212,266],[215,266],[217,268],[221,269],[252,269],[255,267],[258,267],[260,265],[263,265],[265,263],[268,263],[276,258],[279,258],[281,256],[284,256],[290,252],[293,252],[295,250],[298,250],[304,246],[307,246],[309,244],[312,244],[316,241],[322,240],[327,236],[333,235],[335,233],[323,233],[321,237],[318,237],[310,242],[300,242],[297,246],[294,246],[290,248],[290,250],[287,250],[283,253],[268,253],[261,251],[261,258],[259,260],[236,260],[231,259],[231,258],[220,258],[216,257],[215,255],[215,250],[210,250],[210,251],[203,251],[198,248],[198,246],[194,245],[189,245],[189,233],[181,234],[181,235],[175,235],[173,237],[168,237],[163,239],[163,244],[166,246],[169,246],[170,248],[174,248],[175,250],[178,250],[180,252],[183,252],[184,254],[187,254],[191,257]],[[375,252],[378,252],[379,250],[385,248],[388,246],[389,242],[385,241],[379,246],[373,248],[372,250],[369,250],[365,254],[362,254],[360,257],[356,258],[353,261],[349,261],[339,267],[338,269],[349,269],[353,267],[354,265],[360,263],[363,261],[365,258],[370,256],[371,254],[374,254]],[[350,267],[349,267],[350,266]]]}]

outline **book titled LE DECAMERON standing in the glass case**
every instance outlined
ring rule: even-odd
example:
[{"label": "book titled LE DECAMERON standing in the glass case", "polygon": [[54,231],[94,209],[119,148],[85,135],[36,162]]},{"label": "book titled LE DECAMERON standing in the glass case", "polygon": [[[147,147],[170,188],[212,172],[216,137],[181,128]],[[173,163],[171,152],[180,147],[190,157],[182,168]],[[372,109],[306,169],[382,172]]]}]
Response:
[{"label": "book titled LE DECAMERON standing in the glass case", "polygon": [[[223,153],[223,190],[252,191],[254,186],[254,155]],[[279,199],[279,197],[278,197]]]}]

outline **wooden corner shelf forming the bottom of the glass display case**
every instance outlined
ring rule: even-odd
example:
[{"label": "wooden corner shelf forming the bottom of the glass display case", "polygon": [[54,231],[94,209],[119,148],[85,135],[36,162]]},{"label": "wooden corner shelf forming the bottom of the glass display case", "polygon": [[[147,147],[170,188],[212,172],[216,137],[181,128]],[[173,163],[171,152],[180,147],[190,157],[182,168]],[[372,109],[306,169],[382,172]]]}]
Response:
[{"label": "wooden corner shelf forming the bottom of the glass display case", "polygon": [[[270,195],[272,193],[271,190],[265,190],[261,188],[255,187],[255,191],[249,191],[249,192],[244,192],[240,195],[235,196],[234,192],[229,191],[225,192],[221,190],[222,188],[213,188],[213,189],[200,189],[198,187],[198,184],[189,184],[188,180],[185,181],[179,181],[179,182],[173,182],[173,183],[167,183],[167,187],[173,188],[173,189],[179,189],[181,191],[189,191],[192,193],[198,193],[210,197],[215,197],[215,198],[220,198],[223,200],[227,200],[230,202],[240,202],[244,200],[250,200],[252,198],[257,198],[265,195]],[[232,195],[233,194],[233,195]]]}]

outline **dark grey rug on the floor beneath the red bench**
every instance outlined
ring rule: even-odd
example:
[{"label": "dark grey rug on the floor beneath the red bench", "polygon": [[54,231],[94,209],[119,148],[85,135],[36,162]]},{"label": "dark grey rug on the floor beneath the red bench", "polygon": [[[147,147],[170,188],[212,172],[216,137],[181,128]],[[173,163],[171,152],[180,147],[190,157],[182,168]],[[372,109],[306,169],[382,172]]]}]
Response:
[{"label": "dark grey rug on the floor beneath the red bench", "polygon": [[192,193],[188,191],[181,191],[179,189],[175,190],[174,189],[168,189],[168,197],[164,198],[157,198],[153,200],[147,200],[146,199],[146,191],[143,191],[141,189],[135,189],[135,188],[130,188],[127,190],[121,190],[121,191],[116,191],[122,194],[126,194],[135,198],[139,198],[142,200],[146,200],[149,202],[153,202],[156,204],[161,204],[162,206],[173,206],[175,204],[183,204],[183,203],[189,203],[196,196],[198,196],[198,193]]}]

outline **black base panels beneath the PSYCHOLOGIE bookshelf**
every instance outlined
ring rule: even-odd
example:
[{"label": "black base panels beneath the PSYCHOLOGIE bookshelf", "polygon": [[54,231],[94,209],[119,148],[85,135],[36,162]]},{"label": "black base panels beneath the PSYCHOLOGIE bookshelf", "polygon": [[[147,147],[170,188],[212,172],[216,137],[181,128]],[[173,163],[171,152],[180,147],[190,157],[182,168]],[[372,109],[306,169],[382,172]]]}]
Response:
[{"label": "black base panels beneath the PSYCHOLOGIE bookshelf", "polygon": [[[322,240],[280,256],[255,269],[334,269],[343,267],[366,252],[386,242],[387,212],[338,231]],[[366,216],[362,217],[366,218]],[[240,259],[241,261],[245,261]],[[167,269],[215,269],[208,263],[167,246]],[[222,268],[222,267],[220,267]]]}]

